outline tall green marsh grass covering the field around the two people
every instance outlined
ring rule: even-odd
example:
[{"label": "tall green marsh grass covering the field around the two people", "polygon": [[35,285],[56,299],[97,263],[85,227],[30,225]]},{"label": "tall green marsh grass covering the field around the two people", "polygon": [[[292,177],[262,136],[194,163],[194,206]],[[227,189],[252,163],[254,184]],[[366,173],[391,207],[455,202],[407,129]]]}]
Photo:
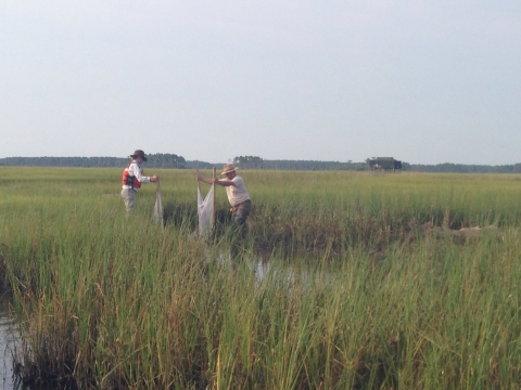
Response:
[{"label": "tall green marsh grass covering the field around the two people", "polygon": [[211,243],[192,234],[192,171],[157,171],[165,233],[153,184],[125,218],[119,169],[1,171],[0,269],[27,382],[521,386],[519,176],[243,171],[254,211],[230,260],[226,225]]}]

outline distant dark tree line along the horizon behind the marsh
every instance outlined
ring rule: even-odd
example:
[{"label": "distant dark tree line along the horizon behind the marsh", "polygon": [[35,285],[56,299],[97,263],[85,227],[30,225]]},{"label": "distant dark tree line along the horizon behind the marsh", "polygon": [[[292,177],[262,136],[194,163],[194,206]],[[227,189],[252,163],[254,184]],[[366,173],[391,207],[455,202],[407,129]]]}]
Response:
[{"label": "distant dark tree line along the horizon behind the marsh", "polygon": [[[147,155],[150,168],[220,168],[223,164],[200,160],[186,160],[176,154]],[[0,166],[25,167],[126,167],[129,157],[5,157],[0,158]],[[367,160],[360,162],[319,161],[319,160],[267,160],[258,156],[238,156],[233,164],[241,169],[281,169],[281,170],[368,170]],[[404,171],[446,172],[446,173],[521,173],[521,164],[486,166],[444,162],[437,165],[408,164],[402,161]]]}]

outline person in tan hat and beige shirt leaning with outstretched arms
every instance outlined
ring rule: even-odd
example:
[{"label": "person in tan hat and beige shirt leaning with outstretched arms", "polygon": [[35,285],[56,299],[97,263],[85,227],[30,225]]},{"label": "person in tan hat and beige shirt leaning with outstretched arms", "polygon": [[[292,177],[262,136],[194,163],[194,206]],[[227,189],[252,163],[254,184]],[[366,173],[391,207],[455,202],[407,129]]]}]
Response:
[{"label": "person in tan hat and beige shirt leaning with outstretched arms", "polygon": [[198,180],[207,184],[217,184],[224,186],[228,195],[228,202],[231,205],[231,220],[241,227],[244,233],[247,230],[246,219],[252,211],[252,199],[246,191],[244,180],[237,174],[237,167],[232,164],[225,164],[223,173],[226,179],[205,179],[198,173]]}]

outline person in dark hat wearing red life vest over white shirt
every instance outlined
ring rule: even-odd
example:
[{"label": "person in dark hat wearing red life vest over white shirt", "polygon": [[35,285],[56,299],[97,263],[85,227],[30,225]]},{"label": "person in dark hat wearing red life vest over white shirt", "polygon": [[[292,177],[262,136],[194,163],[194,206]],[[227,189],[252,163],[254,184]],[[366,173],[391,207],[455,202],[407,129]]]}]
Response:
[{"label": "person in dark hat wearing red life vest over white shirt", "polygon": [[127,168],[125,168],[123,171],[122,178],[122,197],[125,202],[127,213],[134,209],[136,204],[136,194],[141,187],[141,184],[150,182],[155,183],[160,181],[160,177],[157,174],[154,174],[153,177],[143,176],[143,168],[141,165],[147,161],[143,151],[138,150],[134,152],[134,154],[130,155],[130,158],[131,160]]}]

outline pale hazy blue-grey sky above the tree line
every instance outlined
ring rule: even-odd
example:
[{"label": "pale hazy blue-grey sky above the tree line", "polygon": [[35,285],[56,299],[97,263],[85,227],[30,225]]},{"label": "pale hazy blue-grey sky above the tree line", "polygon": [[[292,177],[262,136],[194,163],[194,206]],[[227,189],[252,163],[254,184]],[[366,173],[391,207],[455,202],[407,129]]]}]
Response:
[{"label": "pale hazy blue-grey sky above the tree line", "polygon": [[521,162],[520,0],[0,0],[0,157]]}]

